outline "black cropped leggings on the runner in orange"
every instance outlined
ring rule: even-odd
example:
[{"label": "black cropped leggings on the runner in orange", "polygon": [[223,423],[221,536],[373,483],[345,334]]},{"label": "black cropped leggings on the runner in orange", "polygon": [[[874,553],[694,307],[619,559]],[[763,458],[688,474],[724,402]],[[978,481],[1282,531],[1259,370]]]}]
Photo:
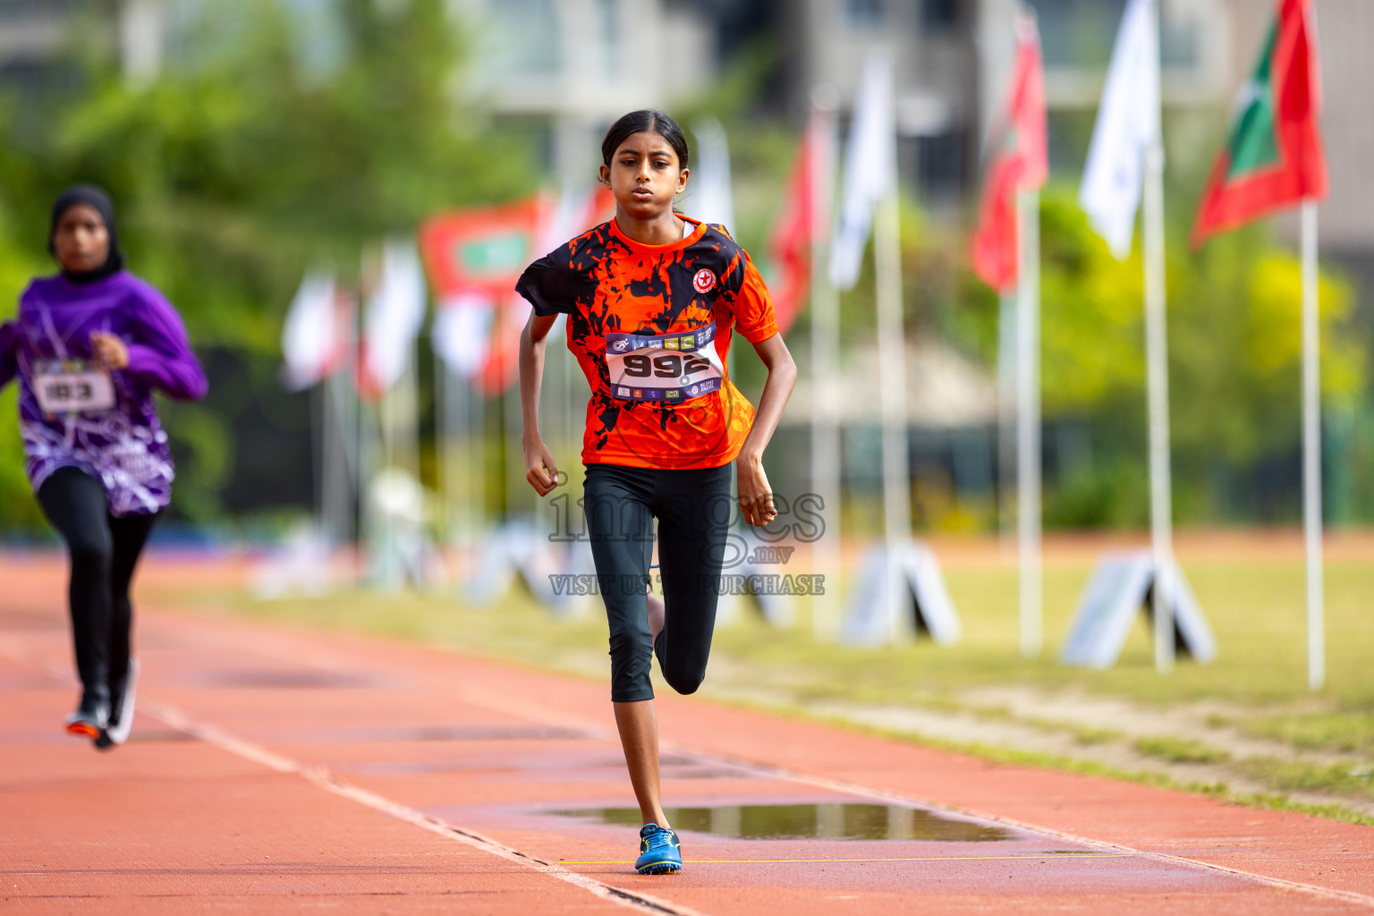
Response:
[{"label": "black cropped leggings on the runner in orange", "polygon": [[[734,505],[730,466],[657,470],[588,464],[587,530],[610,622],[610,698],[654,698],[649,680],[658,656],[664,680],[691,694],[706,677],[725,536]],[[666,623],[653,640],[647,585],[658,519],[658,571]]]}]

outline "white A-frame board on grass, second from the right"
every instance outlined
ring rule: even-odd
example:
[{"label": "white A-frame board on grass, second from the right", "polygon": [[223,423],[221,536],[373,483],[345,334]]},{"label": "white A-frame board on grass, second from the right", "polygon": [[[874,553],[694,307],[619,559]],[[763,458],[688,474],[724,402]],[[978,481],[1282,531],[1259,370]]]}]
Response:
[{"label": "white A-frame board on grass, second from the right", "polygon": [[929,547],[904,541],[868,551],[840,630],[842,643],[882,645],[929,634],[949,645],[959,633],[959,614]]}]

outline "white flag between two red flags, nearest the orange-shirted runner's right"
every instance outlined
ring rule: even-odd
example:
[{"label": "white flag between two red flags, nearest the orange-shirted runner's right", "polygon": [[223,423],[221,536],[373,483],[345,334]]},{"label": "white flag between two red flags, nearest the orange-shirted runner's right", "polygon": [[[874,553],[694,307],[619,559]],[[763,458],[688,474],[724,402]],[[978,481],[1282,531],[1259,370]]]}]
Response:
[{"label": "white flag between two red flags, nearest the orange-shirted runner's right", "polygon": [[897,132],[892,102],[892,58],[868,55],[845,147],[840,225],[830,249],[830,282],[849,290],[859,282],[874,205],[897,185]]}]

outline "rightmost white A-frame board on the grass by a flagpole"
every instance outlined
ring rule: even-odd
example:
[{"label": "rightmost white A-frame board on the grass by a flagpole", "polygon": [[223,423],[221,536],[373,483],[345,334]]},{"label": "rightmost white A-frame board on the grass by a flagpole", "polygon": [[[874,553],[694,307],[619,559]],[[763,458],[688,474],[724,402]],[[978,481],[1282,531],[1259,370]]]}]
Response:
[{"label": "rightmost white A-frame board on the grass by a flagpole", "polygon": [[[1175,650],[1187,652],[1197,662],[1210,662],[1216,658],[1212,628],[1178,563],[1172,573]],[[1079,599],[1069,636],[1059,650],[1059,661],[1084,667],[1116,665],[1136,614],[1143,610],[1147,618],[1154,617],[1154,555],[1150,551],[1103,556]]]}]

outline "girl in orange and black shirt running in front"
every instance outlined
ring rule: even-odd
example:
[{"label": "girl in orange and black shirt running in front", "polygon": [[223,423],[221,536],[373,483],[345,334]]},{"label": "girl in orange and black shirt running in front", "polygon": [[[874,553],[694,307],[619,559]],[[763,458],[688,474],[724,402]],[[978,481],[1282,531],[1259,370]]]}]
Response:
[{"label": "girl in orange and black shirt running in front", "polygon": [[[539,435],[539,391],[559,312],[591,385],[584,505],[610,622],[616,726],[644,821],[635,867],[654,875],[682,869],[682,853],[660,798],[651,658],[677,692],[701,685],[734,514],[730,464],[745,519],[768,525],[776,511],[763,453],[797,380],[749,255],[724,227],[673,211],[687,161],[671,117],[622,117],[602,141],[616,218],[532,264],[515,287],[533,306],[519,376],[525,478],[540,496],[558,481]],[[725,372],[735,330],[768,369],[757,411]],[[655,519],[662,603],[647,595]]]}]

